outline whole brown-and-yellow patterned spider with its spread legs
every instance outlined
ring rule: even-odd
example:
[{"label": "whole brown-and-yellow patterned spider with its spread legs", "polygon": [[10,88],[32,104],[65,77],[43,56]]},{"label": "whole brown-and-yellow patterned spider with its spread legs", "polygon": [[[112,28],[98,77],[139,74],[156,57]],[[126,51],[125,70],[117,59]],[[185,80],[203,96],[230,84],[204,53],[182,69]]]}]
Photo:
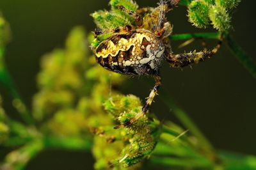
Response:
[{"label": "whole brown-and-yellow patterned spider with its spread legs", "polygon": [[163,59],[170,66],[181,68],[204,61],[220,49],[221,40],[212,50],[173,54],[170,46],[172,25],[165,18],[165,14],[172,10],[179,0],[160,0],[156,8],[141,8],[136,12],[124,6],[116,6],[118,10],[134,18],[135,24],[115,29],[95,29],[95,38],[99,35],[109,34],[106,40],[94,49],[95,59],[99,65],[116,73],[130,75],[152,75],[155,79],[154,88],[150,91],[145,105],[133,119],[124,125],[130,125],[146,114],[161,85],[159,67]]}]

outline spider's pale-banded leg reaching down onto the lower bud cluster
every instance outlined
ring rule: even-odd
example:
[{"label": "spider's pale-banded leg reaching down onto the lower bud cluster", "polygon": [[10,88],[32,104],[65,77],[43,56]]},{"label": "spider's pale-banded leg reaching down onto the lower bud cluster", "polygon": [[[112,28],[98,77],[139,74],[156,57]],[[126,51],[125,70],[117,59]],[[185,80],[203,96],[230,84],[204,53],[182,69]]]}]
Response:
[{"label": "spider's pale-banded leg reaching down onto the lower bud cluster", "polygon": [[118,125],[117,127],[114,127],[115,129],[121,128],[121,127],[127,127],[127,126],[131,125],[134,121],[138,120],[141,116],[143,116],[144,114],[147,113],[148,108],[150,107],[150,105],[154,101],[154,97],[156,97],[157,91],[159,90],[160,85],[161,85],[161,77],[159,75],[154,75],[154,79],[156,81],[155,85],[154,85],[154,88],[150,91],[150,94],[147,98],[147,102],[146,102],[145,105],[143,105],[141,111],[138,112],[138,114],[136,114],[136,116],[134,118],[127,121],[126,123],[124,123],[122,125]]}]

